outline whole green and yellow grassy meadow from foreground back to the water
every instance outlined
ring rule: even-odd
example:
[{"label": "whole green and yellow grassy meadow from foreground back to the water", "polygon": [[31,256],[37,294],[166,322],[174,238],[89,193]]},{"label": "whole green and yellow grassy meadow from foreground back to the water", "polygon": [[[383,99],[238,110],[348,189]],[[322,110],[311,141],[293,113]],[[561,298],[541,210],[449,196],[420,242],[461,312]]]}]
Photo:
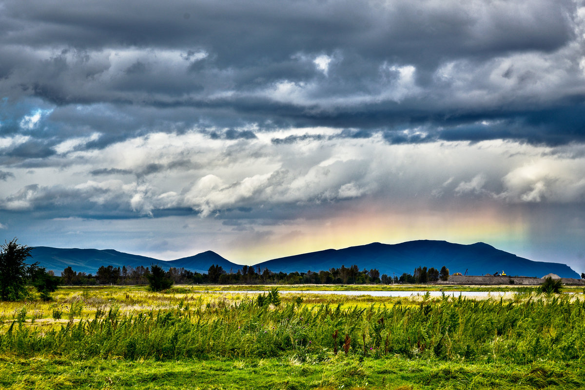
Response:
[{"label": "whole green and yellow grassy meadow from foreground back to the water", "polygon": [[0,387],[585,388],[582,289],[497,300],[300,291],[261,305],[201,292],[211,289],[65,287],[50,302],[2,302]]}]

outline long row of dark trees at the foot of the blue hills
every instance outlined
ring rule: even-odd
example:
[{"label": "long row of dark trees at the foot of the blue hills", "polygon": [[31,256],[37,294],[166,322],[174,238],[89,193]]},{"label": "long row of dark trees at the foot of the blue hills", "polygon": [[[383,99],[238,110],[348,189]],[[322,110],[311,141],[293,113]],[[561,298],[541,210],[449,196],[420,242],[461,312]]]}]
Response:
[{"label": "long row of dark trees at the foot of the blue hills", "polygon": [[[61,284],[66,285],[97,285],[97,284],[148,284],[152,278],[153,267],[113,267],[101,266],[97,273],[86,274],[76,272],[67,267],[61,272]],[[353,266],[331,268],[328,271],[307,272],[273,272],[259,266],[242,266],[238,270],[224,270],[222,266],[213,264],[207,273],[198,273],[184,268],[171,267],[163,271],[164,277],[177,284],[398,284],[398,283],[432,283],[438,280],[448,280],[449,269],[445,266],[441,270],[433,267],[418,267],[412,274],[403,273],[400,277],[381,274],[377,269],[363,269]],[[160,270],[157,269],[157,273]]]}]

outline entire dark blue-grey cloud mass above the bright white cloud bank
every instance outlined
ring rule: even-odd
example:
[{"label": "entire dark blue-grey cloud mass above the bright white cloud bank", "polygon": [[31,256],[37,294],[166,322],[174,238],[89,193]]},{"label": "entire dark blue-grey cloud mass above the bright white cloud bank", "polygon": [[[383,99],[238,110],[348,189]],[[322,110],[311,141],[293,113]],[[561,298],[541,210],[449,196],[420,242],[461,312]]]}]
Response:
[{"label": "entire dark blue-grey cloud mass above the bright white cloud bank", "polygon": [[[580,141],[583,99],[574,96],[582,96],[585,81],[570,65],[582,52],[579,23],[573,2],[552,0],[424,6],[7,0],[0,16],[0,92],[9,106],[0,132],[19,131],[30,114],[22,102],[30,101],[53,109],[35,134],[51,141],[36,156],[92,132],[101,137],[82,147],[104,148],[154,131],[249,124],[259,124],[259,131],[350,127],[357,137],[380,128],[439,128],[430,138],[384,130],[393,143]],[[520,58],[534,54],[546,58],[544,65]],[[547,80],[554,69],[559,78]],[[545,117],[551,106],[574,116]],[[474,126],[494,112],[515,128]],[[211,137],[256,134],[226,130]]]}]

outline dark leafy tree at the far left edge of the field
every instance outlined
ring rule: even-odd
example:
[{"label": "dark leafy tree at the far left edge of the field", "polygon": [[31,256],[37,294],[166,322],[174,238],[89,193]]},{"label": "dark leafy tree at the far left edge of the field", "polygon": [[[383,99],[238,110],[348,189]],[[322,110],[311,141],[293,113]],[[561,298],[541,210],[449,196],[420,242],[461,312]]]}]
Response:
[{"label": "dark leafy tree at the far left edge of the field", "polygon": [[27,257],[32,257],[30,248],[26,245],[16,243],[13,238],[11,242],[4,242],[0,246],[0,299],[2,301],[18,301],[26,298],[26,278],[28,275]]}]

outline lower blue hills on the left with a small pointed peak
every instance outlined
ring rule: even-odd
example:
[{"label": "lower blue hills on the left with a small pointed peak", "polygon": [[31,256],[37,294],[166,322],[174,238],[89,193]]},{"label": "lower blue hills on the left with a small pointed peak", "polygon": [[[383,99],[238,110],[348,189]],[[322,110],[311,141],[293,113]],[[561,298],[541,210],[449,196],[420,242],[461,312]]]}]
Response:
[{"label": "lower blue hills on the left with a small pointed peak", "polygon": [[129,253],[118,252],[113,249],[78,249],[78,248],[51,248],[49,246],[37,246],[30,251],[32,260],[39,262],[41,267],[53,270],[56,275],[71,266],[74,271],[95,274],[101,266],[130,266],[150,267],[151,264],[159,264],[163,269],[170,267],[185,268],[199,273],[207,273],[209,266],[219,264],[223,269],[229,271],[240,269],[239,264],[234,264],[208,250],[195,256],[184,257],[177,260],[158,260],[153,257],[130,255]]}]

